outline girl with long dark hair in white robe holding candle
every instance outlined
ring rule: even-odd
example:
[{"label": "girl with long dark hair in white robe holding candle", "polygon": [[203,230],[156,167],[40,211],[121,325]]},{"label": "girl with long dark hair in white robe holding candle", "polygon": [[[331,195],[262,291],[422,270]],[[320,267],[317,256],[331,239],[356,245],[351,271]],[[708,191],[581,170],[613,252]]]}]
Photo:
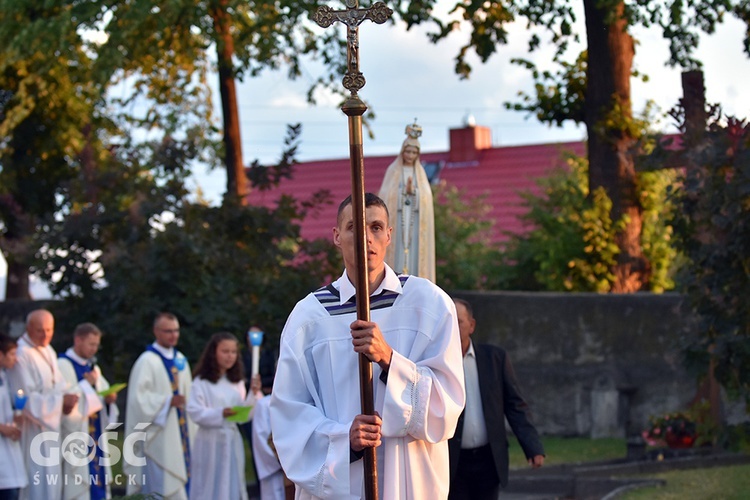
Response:
[{"label": "girl with long dark hair in white robe holding candle", "polygon": [[219,332],[203,349],[193,376],[187,412],[198,431],[193,442],[189,496],[247,499],[242,436],[237,423],[228,417],[237,414],[234,408],[254,406],[263,397],[260,375],[253,376],[246,393],[237,338]]}]

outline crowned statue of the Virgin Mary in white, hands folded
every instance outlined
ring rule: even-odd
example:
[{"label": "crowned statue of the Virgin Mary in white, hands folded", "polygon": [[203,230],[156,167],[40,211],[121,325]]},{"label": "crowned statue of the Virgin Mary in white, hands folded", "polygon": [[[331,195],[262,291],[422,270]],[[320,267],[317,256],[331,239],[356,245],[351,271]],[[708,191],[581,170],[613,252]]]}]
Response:
[{"label": "crowned statue of the Virgin Mary in white, hands folded", "polygon": [[385,172],[379,196],[393,228],[385,261],[396,272],[435,282],[435,216],[432,188],[419,161],[422,127],[406,126],[401,152]]}]

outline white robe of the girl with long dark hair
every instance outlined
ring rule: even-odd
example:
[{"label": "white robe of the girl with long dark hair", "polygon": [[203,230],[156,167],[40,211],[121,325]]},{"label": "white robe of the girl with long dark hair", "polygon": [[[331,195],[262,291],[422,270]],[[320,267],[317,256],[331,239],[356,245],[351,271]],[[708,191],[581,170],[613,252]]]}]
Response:
[{"label": "white robe of the girl with long dark hair", "polygon": [[187,411],[198,425],[190,462],[190,498],[247,499],[245,444],[237,423],[223,416],[224,408],[252,406],[245,382],[222,376],[215,384],[200,377],[193,381]]}]

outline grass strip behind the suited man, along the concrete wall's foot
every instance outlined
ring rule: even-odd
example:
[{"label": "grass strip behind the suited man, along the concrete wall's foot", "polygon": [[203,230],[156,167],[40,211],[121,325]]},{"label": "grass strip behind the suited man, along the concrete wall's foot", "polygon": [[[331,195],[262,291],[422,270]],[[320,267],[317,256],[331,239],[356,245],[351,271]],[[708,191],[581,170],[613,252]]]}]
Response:
[{"label": "grass strip behind the suited man, along the concrete wall's foot", "polygon": [[[542,436],[545,452],[545,465],[560,465],[576,462],[596,462],[623,458],[627,451],[625,439],[601,438],[582,439]],[[510,468],[528,467],[526,456],[515,437],[510,438]]]}]

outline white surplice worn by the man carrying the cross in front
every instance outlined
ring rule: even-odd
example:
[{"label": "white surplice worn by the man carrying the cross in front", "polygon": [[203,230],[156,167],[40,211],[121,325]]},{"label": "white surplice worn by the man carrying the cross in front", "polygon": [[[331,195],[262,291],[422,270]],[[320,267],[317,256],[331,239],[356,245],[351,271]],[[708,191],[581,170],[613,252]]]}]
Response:
[{"label": "white surplice worn by the man carrying the cross in front", "polygon": [[[297,303],[281,335],[271,428],[296,498],[364,495],[363,460],[350,463],[349,430],[361,413],[358,355],[349,328],[356,313],[345,304],[354,287],[346,273],[333,286],[341,295],[335,304],[326,304],[338,308],[334,315],[317,298],[330,300],[323,288]],[[386,293],[380,296],[381,291]],[[388,305],[386,299],[393,298]],[[447,498],[447,440],[465,399],[453,301],[416,276],[402,287],[386,266],[371,309],[372,321],[393,348],[387,383],[380,366],[372,365],[375,410],[383,419],[377,449],[381,497]]]}]

